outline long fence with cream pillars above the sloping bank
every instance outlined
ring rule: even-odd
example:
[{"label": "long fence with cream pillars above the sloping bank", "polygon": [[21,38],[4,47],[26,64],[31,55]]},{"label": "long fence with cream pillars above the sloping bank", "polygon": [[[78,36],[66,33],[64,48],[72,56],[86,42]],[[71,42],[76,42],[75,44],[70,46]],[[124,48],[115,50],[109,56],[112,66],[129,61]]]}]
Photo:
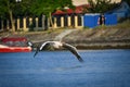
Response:
[{"label": "long fence with cream pillars above the sloping bank", "polygon": [[[82,28],[82,15],[53,16],[54,28],[69,27]],[[43,20],[42,20],[43,18]],[[21,17],[15,18],[15,29],[17,32],[46,30],[52,28],[48,17]],[[10,30],[11,23],[8,20],[0,20],[0,30]]]}]

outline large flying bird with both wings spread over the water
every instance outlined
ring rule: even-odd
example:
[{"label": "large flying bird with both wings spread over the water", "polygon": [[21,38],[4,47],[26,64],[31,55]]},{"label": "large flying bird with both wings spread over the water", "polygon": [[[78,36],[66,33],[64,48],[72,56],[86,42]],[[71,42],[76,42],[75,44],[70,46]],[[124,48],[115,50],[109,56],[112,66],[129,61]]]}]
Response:
[{"label": "large flying bird with both wings spread over the water", "polygon": [[46,41],[46,42],[43,42],[40,47],[37,48],[36,53],[34,54],[34,58],[36,57],[36,54],[37,54],[39,51],[46,50],[48,47],[51,47],[51,48],[56,49],[56,50],[67,49],[67,50],[69,50],[73,54],[75,54],[76,58],[77,58],[80,62],[83,62],[83,60],[81,59],[81,57],[80,57],[79,53],[77,52],[77,49],[76,49],[74,46],[68,45],[68,44],[65,44],[65,42],[61,42],[61,41]]}]

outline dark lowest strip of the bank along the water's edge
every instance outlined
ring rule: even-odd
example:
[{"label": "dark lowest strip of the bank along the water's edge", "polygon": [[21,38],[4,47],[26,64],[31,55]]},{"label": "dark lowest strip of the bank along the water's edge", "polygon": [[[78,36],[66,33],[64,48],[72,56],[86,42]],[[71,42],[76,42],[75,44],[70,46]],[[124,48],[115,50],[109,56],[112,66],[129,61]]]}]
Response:
[{"label": "dark lowest strip of the bank along the water's edge", "polygon": [[[35,44],[35,46],[40,45],[41,42]],[[94,44],[70,44],[75,46],[78,50],[107,50],[107,49],[130,49],[130,44],[125,42],[94,42]],[[36,50],[36,48],[34,48]]]}]

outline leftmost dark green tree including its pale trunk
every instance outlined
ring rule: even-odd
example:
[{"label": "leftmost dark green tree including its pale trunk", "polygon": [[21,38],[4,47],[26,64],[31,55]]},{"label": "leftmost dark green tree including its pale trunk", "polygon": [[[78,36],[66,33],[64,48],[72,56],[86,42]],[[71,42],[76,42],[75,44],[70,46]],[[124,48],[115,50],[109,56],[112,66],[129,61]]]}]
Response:
[{"label": "leftmost dark green tree including its pale trunk", "polygon": [[14,17],[24,15],[31,0],[0,0],[0,16],[10,18],[12,32],[15,32]]}]

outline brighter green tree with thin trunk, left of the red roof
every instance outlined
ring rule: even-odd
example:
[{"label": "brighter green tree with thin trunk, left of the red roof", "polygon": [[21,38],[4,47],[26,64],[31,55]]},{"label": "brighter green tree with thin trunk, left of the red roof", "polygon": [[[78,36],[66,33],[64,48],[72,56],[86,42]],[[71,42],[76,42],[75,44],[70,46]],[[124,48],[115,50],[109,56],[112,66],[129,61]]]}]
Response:
[{"label": "brighter green tree with thin trunk, left of the red roof", "polygon": [[53,27],[52,13],[56,10],[64,10],[65,7],[74,8],[72,0],[34,0],[30,12],[37,15],[47,15]]}]

